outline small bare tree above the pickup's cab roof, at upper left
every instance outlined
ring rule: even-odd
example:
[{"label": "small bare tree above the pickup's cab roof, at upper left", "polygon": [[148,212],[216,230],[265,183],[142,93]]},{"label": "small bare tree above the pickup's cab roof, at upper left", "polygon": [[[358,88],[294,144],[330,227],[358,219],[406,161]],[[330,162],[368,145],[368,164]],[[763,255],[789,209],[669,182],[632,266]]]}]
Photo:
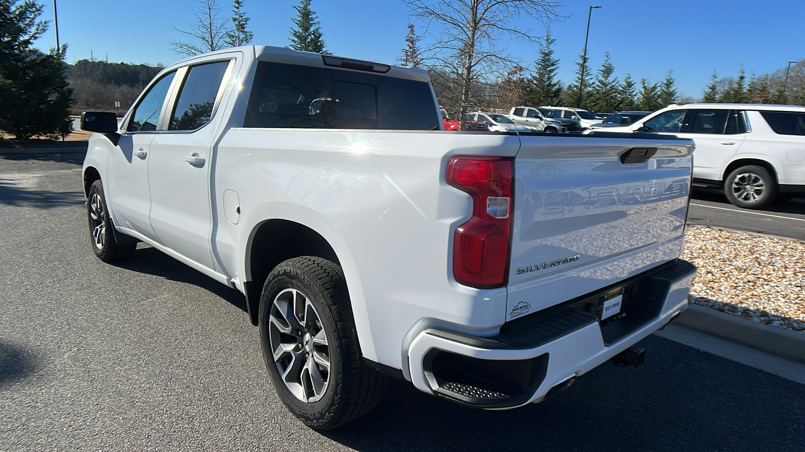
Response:
[{"label": "small bare tree above the pickup's cab roof, at upper left", "polygon": [[217,51],[225,47],[225,39],[231,31],[229,18],[221,17],[221,7],[216,0],[196,0],[192,7],[196,22],[188,23],[189,31],[173,27],[188,39],[171,39],[173,51],[179,55],[199,55],[208,51]]}]

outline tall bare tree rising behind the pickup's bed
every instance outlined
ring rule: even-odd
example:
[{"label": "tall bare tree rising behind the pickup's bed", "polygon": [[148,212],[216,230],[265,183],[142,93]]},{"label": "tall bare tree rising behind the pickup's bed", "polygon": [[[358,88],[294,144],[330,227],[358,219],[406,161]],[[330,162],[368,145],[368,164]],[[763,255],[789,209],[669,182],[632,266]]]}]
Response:
[{"label": "tall bare tree rising behind the pickup's bed", "polygon": [[[493,79],[503,79],[518,64],[499,45],[506,39],[539,43],[543,35],[512,24],[514,18],[527,14],[542,23],[559,16],[561,2],[550,0],[403,0],[409,15],[427,23],[435,42],[423,50],[423,60],[431,68],[450,75],[449,101],[457,105],[459,119],[472,107]],[[473,88],[474,87],[474,88]]]}]

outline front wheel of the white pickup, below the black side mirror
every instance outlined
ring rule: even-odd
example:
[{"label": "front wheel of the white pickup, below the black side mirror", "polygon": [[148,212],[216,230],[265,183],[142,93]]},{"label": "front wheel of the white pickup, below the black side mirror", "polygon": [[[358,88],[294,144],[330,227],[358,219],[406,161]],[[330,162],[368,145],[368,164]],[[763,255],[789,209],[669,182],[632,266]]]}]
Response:
[{"label": "front wheel of the white pickup, below the black side mirror", "polygon": [[89,226],[89,243],[93,253],[101,261],[111,262],[126,259],[134,254],[137,243],[118,244],[114,236],[114,224],[109,219],[106,198],[103,194],[101,179],[93,182],[87,196],[87,226]]}]

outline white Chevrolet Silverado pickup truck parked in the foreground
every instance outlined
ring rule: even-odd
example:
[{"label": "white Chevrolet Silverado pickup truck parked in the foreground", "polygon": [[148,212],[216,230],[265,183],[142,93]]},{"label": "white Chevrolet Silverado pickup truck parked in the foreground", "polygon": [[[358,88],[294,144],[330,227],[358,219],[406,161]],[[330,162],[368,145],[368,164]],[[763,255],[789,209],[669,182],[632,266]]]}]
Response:
[{"label": "white Chevrolet Silverado pickup truck parked in the foreground", "polygon": [[696,275],[693,143],[440,124],[420,69],[260,46],[172,64],[119,126],[82,115],[92,249],[145,242],[241,291],[316,429],[372,409],[386,376],[509,409],[639,364]]}]

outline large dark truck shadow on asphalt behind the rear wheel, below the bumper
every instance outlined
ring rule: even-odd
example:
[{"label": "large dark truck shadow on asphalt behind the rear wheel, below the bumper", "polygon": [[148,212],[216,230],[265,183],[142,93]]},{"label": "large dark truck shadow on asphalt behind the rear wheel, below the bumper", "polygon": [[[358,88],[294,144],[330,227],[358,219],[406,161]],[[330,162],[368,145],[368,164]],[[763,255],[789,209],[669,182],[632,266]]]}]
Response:
[{"label": "large dark truck shadow on asphalt behind the rear wheel, below the bumper", "polygon": [[[605,363],[539,405],[482,411],[390,381],[365,417],[324,432],[355,450],[786,450],[805,386],[650,336],[646,364]],[[764,432],[763,434],[758,434]]]}]

